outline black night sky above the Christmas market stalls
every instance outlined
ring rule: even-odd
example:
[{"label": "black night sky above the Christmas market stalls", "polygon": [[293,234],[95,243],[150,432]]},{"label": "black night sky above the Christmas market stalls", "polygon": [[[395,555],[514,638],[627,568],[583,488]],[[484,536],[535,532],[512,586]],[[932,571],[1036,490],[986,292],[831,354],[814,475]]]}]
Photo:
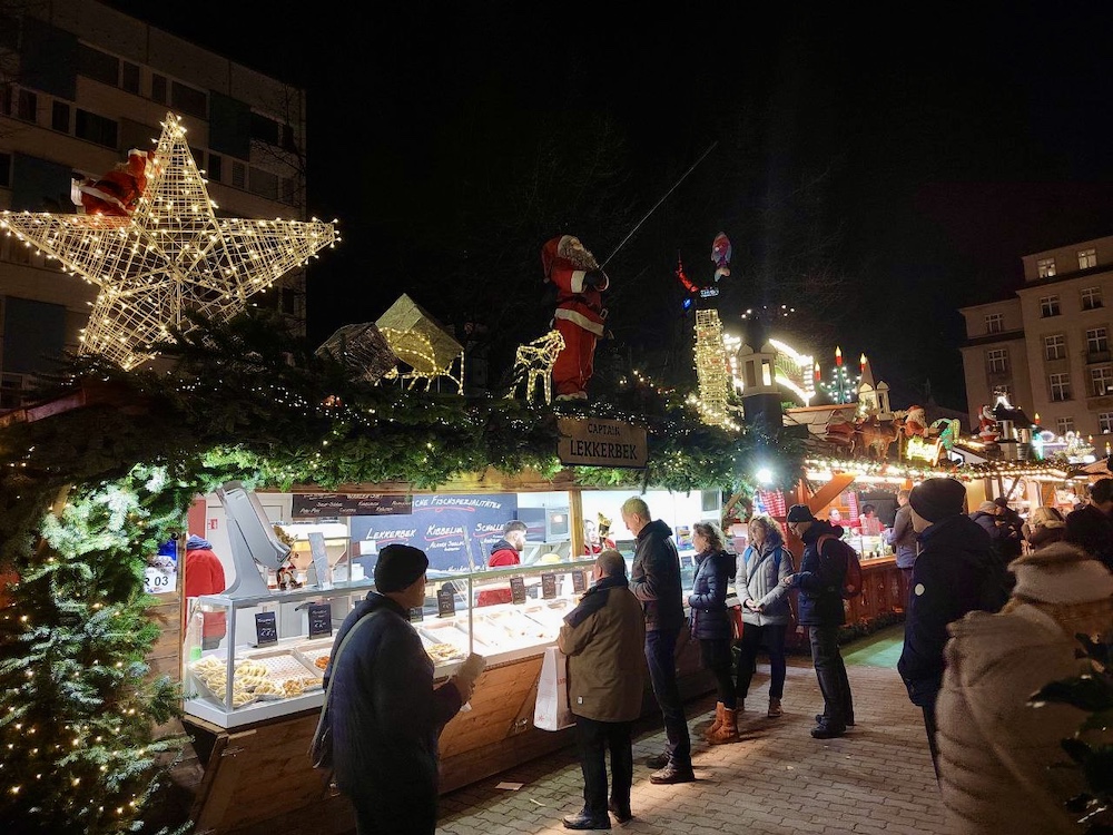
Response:
[{"label": "black night sky above the Christmas market stalls", "polygon": [[[411,281],[450,320],[429,297],[443,253],[426,247],[498,187],[490,160],[554,114],[612,120],[613,208],[634,222],[719,143],[609,266],[620,338],[670,326],[678,254],[709,277],[721,229],[745,265],[728,330],[748,305],[806,310],[785,320],[796,341],[867,353],[895,406],[929,381],[964,407],[956,308],[1018,287],[1022,255],[1113,234],[1105,3],[112,4],[308,89],[309,213],[345,238],[309,272],[318,342]],[[237,23],[230,6],[253,11]],[[601,258],[621,238],[561,224],[490,246],[524,264],[551,235]],[[830,275],[831,292],[805,296],[786,269]]]}]

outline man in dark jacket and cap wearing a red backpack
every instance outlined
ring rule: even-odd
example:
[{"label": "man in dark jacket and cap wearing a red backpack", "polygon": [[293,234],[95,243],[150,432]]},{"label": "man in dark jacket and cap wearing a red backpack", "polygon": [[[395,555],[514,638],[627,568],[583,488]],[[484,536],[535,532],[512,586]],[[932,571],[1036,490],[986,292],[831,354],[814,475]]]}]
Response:
[{"label": "man in dark jacket and cap wearing a red backpack", "polygon": [[[816,716],[811,736],[830,739],[854,725],[854,698],[838,646],[838,629],[846,619],[840,590],[847,567],[838,541],[843,529],[816,519],[807,504],[794,504],[785,521],[804,541],[804,558],[800,570],[786,577],[784,583],[800,590],[799,623],[808,627],[811,664],[824,695],[824,711]],[[823,547],[821,537],[828,538]]]}]

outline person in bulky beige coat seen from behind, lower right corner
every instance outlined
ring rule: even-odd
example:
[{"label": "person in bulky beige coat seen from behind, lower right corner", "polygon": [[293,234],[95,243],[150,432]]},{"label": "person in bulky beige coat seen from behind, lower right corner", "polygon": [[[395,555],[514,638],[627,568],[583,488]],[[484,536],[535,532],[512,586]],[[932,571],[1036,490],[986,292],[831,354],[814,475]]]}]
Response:
[{"label": "person in bulky beige coat seen from behind, lower right corner", "polygon": [[998,615],[971,612],[951,625],[947,669],[936,704],[939,788],[948,832],[1078,832],[1064,803],[1083,790],[1061,740],[1085,714],[1035,706],[1044,686],[1090,671],[1076,633],[1113,623],[1113,574],[1083,550],[1055,542],[1020,557],[1012,598]]}]

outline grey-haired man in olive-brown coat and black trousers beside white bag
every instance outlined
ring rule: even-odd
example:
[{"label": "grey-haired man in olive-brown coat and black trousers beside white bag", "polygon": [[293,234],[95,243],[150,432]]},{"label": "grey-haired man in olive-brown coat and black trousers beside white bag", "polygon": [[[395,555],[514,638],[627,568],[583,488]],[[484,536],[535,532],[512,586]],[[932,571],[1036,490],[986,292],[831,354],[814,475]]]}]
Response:
[{"label": "grey-haired man in olive-brown coat and black trousers beside white bag", "polygon": [[[646,621],[630,591],[626,561],[614,549],[595,558],[594,583],[564,618],[556,645],[568,656],[569,704],[583,770],[583,809],[564,818],[569,829],[609,829],[608,808],[619,823],[630,812],[633,744],[630,728],[641,715]],[[611,752],[607,797],[605,752]]]}]

